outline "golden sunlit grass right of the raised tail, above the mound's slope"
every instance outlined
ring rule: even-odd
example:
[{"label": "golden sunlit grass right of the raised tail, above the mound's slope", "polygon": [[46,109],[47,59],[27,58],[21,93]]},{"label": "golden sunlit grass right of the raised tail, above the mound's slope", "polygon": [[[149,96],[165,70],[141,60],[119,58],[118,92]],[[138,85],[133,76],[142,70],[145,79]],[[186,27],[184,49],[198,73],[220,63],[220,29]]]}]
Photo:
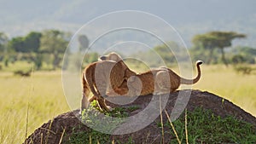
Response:
[{"label": "golden sunlit grass right of the raised tail, above the mound's slope", "polygon": [[220,95],[256,116],[256,75],[241,75],[233,67],[202,66],[202,78],[193,89]]}]

